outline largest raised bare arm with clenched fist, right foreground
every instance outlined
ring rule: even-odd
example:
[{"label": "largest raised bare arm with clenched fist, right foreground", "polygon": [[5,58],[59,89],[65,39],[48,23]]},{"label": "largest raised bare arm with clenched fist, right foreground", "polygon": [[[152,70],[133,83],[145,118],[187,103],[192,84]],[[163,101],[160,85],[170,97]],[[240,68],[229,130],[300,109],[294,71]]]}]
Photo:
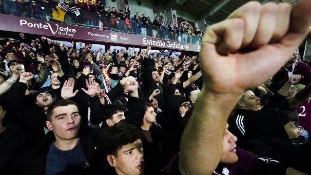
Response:
[{"label": "largest raised bare arm with clenched fist, right foreground", "polygon": [[182,174],[213,173],[231,110],[245,90],[273,76],[290,58],[310,32],[310,8],[309,0],[292,9],[285,3],[249,2],[207,28],[200,51],[204,85],[181,139]]}]

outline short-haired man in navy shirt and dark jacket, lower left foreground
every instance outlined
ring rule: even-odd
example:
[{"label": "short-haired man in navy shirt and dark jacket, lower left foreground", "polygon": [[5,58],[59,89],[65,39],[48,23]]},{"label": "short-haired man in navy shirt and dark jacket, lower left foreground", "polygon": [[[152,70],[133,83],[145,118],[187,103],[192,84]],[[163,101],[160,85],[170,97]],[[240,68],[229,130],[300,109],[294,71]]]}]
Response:
[{"label": "short-haired man in navy shirt and dark jacket, lower left foreground", "polygon": [[50,130],[26,157],[25,170],[32,175],[92,174],[97,170],[96,129],[81,125],[77,104],[60,99],[46,112]]}]

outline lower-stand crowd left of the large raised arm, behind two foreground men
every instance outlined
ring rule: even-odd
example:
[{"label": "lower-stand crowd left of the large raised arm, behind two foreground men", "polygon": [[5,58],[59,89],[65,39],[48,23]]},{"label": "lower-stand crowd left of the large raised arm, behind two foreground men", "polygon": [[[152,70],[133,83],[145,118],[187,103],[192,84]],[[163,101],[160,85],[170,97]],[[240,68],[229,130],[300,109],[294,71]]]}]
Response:
[{"label": "lower-stand crowd left of the large raised arm, behind two foreground men", "polygon": [[[45,124],[51,121],[48,109],[60,99],[71,99],[78,105],[81,128],[85,125],[100,131],[93,138],[99,153],[99,148],[105,147],[102,139],[107,128],[124,119],[144,133],[144,156],[155,157],[141,160],[146,174],[164,173],[171,156],[178,153],[182,116],[193,106],[202,86],[197,56],[172,56],[172,52],[149,55],[150,46],[140,53],[134,52],[135,48],[92,51],[91,43],[79,42],[76,49],[74,42],[68,47],[45,37],[19,36],[2,39],[0,46],[1,121],[6,111],[1,138],[16,138],[1,139],[1,145],[5,142],[1,147],[6,160],[1,162],[3,172],[19,170],[14,163],[24,157],[16,157],[31,151],[28,148],[48,136],[48,130],[56,131]],[[105,158],[100,161],[106,163],[102,167],[109,167]],[[57,171],[51,169],[48,171]]]}]

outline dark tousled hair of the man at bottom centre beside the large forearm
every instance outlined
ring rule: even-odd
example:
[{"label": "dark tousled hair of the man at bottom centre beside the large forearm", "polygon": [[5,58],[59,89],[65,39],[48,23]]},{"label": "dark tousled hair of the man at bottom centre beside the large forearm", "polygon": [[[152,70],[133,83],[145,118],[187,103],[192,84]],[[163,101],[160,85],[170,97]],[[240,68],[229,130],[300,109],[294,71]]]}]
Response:
[{"label": "dark tousled hair of the man at bottom centre beside the large forearm", "polygon": [[102,143],[107,154],[117,156],[117,151],[122,146],[133,143],[142,136],[142,132],[136,126],[120,121],[107,129]]}]

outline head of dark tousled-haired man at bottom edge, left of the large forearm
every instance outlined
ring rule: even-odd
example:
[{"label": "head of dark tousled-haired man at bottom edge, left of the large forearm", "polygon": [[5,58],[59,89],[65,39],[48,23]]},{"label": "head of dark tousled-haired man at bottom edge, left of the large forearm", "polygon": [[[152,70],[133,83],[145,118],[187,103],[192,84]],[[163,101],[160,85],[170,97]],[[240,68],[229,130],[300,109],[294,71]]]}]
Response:
[{"label": "head of dark tousled-haired man at bottom edge, left of the large forearm", "polygon": [[144,155],[142,133],[138,128],[126,122],[110,127],[103,139],[107,161],[114,167],[117,175],[142,175]]}]

